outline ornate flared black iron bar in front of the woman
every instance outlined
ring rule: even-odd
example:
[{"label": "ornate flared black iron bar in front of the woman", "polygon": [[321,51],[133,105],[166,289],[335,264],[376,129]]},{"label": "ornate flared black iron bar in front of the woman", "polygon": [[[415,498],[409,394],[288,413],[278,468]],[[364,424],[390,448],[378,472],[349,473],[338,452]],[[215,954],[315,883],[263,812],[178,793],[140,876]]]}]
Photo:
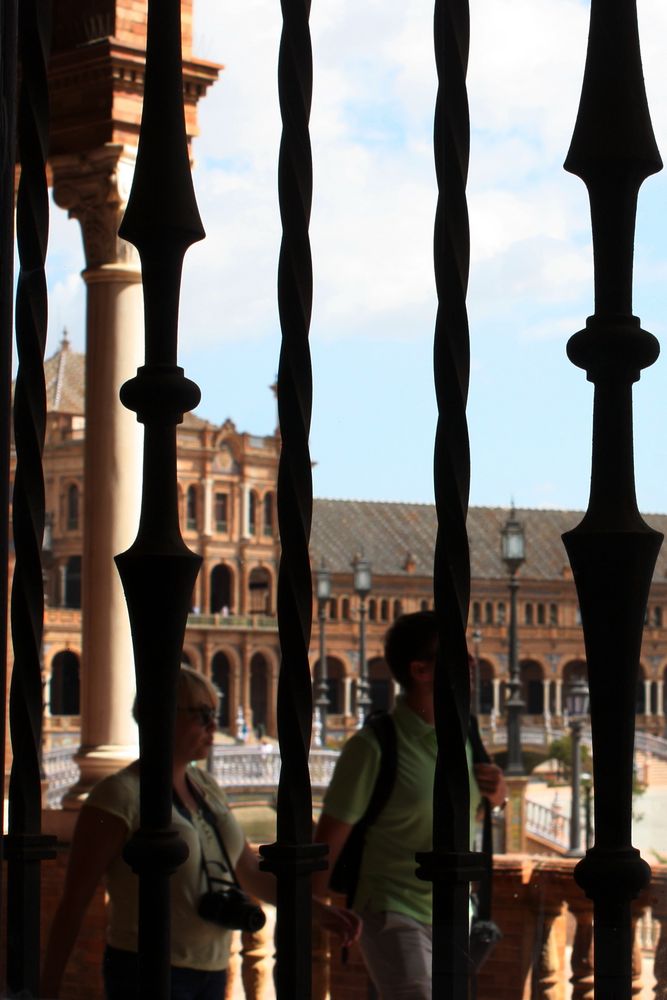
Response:
[{"label": "ornate flared black iron bar in front of the woman", "polygon": [[144,424],[139,530],[116,557],[127,599],[141,746],[140,828],[124,856],[139,875],[141,995],[170,988],[169,877],[187,856],[171,827],[172,743],[190,596],[201,564],[181,537],[176,425],[199,389],[176,364],[183,258],[204,237],[192,186],[183,112],[179,0],[149,0],[146,82],[137,165],[120,235],[141,258],[146,363],[121,389]]}]

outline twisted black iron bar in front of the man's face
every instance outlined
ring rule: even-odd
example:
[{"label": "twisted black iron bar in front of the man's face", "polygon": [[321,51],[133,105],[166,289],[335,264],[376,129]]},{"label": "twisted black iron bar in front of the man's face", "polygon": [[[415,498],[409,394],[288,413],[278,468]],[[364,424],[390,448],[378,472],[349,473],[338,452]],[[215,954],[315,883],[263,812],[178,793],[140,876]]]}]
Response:
[{"label": "twisted black iron bar in front of the man's face", "polygon": [[438,758],[433,796],[433,850],[418,855],[420,878],[433,882],[433,995],[468,997],[468,893],[481,874],[470,851],[466,739],[470,677],[466,622],[470,554],[466,533],[470,451],[466,401],[470,345],[466,291],[470,257],[466,181],[470,124],[466,71],[470,38],[467,0],[436,0],[438,71],[434,152],[438,204],[434,265],[438,294],[434,372],[438,400],[435,500],[438,533],[433,589],[440,637],[435,675]]}]

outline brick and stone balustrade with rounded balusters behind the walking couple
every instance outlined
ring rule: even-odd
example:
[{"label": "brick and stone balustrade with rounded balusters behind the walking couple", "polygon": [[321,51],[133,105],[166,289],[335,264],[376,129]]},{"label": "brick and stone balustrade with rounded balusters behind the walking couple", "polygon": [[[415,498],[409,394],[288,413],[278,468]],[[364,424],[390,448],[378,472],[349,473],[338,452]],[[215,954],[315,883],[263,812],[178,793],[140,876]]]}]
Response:
[{"label": "brick and stone balustrade with rounded balusters behind the walking couple", "polygon": [[[493,917],[503,939],[479,974],[479,1000],[593,1000],[593,907],[572,878],[576,859],[495,859]],[[667,868],[656,866],[634,909],[632,996],[667,998]],[[271,932],[233,949],[232,996],[274,1000]],[[313,1000],[368,996],[357,948],[345,964],[325,936],[315,939]],[[246,992],[241,986],[241,975]],[[236,992],[234,992],[236,990]]]}]

